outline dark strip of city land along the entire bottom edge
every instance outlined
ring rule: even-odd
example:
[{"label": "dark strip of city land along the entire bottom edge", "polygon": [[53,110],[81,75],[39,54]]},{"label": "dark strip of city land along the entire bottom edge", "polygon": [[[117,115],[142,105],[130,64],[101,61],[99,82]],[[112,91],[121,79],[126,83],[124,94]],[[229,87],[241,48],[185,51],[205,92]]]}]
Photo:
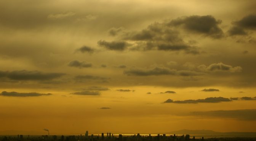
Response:
[{"label": "dark strip of city land along the entire bottom edge", "polygon": [[0,136],[0,141],[256,141],[256,137],[195,138],[190,135],[78,135],[78,136]]}]

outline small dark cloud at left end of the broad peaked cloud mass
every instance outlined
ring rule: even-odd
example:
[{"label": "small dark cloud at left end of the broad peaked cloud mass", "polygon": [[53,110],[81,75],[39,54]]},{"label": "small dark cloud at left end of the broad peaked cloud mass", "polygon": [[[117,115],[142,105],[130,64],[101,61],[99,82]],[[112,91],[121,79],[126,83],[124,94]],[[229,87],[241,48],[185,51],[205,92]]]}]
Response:
[{"label": "small dark cloud at left end of the broad peaked cloud mass", "polygon": [[130,46],[131,44],[128,44],[125,41],[112,41],[112,42],[107,42],[104,40],[98,41],[98,45],[105,47],[106,49],[109,50],[118,50],[118,51],[123,51],[126,49],[126,47]]}]

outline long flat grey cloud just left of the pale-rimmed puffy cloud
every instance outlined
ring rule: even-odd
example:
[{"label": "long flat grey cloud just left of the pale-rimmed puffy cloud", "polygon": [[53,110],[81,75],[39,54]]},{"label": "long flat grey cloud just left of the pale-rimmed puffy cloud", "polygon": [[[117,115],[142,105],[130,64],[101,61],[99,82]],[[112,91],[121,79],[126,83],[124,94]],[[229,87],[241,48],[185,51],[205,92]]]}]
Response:
[{"label": "long flat grey cloud just left of the pale-rimmed puffy cloud", "polygon": [[149,76],[149,75],[179,75],[179,76],[197,76],[197,75],[203,75],[203,73],[200,72],[194,72],[194,71],[177,71],[175,69],[169,69],[166,67],[155,67],[153,69],[130,69],[125,70],[123,72],[126,75],[136,75],[136,76]]}]

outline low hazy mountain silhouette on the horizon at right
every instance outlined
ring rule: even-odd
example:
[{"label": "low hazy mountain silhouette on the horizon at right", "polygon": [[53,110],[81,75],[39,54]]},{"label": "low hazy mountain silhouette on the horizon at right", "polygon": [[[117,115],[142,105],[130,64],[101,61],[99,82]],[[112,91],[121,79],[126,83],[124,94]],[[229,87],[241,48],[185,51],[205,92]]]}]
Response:
[{"label": "low hazy mountain silhouette on the horizon at right", "polygon": [[166,132],[165,134],[256,136],[256,132],[215,132],[213,130],[187,130],[187,129]]}]

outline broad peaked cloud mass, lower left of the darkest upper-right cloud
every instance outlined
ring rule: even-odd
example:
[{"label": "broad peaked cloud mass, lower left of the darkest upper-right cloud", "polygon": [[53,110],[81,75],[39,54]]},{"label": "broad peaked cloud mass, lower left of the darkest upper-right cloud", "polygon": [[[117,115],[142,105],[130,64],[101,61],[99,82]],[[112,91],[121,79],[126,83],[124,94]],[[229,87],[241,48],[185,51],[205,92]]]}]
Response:
[{"label": "broad peaked cloud mass, lower left of the darkest upper-right cloud", "polygon": [[184,51],[198,54],[198,48],[190,46],[179,36],[179,32],[167,26],[166,23],[154,23],[146,29],[127,32],[121,36],[124,40],[134,41],[131,50],[163,50]]}]

